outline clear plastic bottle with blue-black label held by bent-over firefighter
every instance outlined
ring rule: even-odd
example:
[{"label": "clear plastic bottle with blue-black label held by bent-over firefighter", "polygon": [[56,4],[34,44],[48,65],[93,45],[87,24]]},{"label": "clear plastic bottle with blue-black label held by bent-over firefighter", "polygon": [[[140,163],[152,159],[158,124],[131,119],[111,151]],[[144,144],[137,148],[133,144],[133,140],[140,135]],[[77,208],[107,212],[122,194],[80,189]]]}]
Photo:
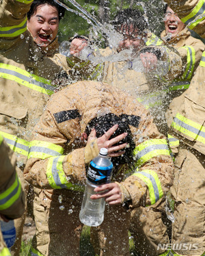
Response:
[{"label": "clear plastic bottle with blue-black label held by bent-over firefighter", "polygon": [[81,222],[87,226],[99,226],[104,220],[105,199],[90,199],[90,196],[96,194],[94,189],[98,185],[111,181],[112,170],[113,164],[107,157],[107,149],[100,149],[98,157],[92,159],[87,171],[83,203],[79,214]]}]

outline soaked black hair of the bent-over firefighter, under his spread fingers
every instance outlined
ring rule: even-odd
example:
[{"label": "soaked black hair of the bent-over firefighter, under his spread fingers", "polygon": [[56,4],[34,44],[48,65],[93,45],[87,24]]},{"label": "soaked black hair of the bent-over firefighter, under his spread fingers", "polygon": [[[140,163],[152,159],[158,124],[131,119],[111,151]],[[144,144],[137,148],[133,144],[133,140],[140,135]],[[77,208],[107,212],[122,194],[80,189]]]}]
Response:
[{"label": "soaked black hair of the bent-over firefighter, under his spread fingers", "polygon": [[[125,153],[119,157],[112,157],[111,161],[116,166],[118,164],[128,164],[131,168],[133,167],[133,150],[135,149],[135,142],[131,133],[131,129],[128,125],[128,120],[124,116],[117,116],[113,113],[105,114],[104,116],[96,117],[92,119],[85,128],[85,133],[89,136],[91,130],[96,129],[96,137],[100,138],[106,131],[108,131],[113,125],[118,124],[118,129],[113,133],[109,140],[115,138],[116,136],[126,132],[128,133],[126,138],[116,143],[115,145],[120,145],[123,143],[128,143],[129,147],[125,149]],[[124,149],[123,149],[124,150]]]}]

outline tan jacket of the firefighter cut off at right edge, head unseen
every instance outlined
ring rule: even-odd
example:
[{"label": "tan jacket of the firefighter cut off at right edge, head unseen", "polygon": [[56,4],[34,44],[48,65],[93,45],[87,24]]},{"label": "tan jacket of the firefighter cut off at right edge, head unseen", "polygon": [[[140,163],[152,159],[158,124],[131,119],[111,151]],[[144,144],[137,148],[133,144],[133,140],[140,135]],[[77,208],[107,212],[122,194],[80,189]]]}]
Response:
[{"label": "tan jacket of the firefighter cut off at right edge, head unseen", "polygon": [[[205,1],[166,1],[177,12],[181,21],[205,38]],[[200,153],[205,153],[205,94],[204,94],[205,52],[189,89],[174,99],[169,106],[169,133],[178,136],[185,144]],[[174,120],[172,119],[174,118]],[[173,120],[173,122],[172,122]]]}]

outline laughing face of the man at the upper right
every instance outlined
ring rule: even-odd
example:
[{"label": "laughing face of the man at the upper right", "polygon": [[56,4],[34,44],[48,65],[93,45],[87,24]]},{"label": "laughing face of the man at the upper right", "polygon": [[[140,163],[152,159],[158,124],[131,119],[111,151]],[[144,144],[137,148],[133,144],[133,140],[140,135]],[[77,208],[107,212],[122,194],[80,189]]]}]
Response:
[{"label": "laughing face of the man at the upper right", "polygon": [[169,7],[167,7],[164,22],[166,34],[172,34],[172,38],[174,38],[174,36],[176,36],[185,27],[177,14]]}]

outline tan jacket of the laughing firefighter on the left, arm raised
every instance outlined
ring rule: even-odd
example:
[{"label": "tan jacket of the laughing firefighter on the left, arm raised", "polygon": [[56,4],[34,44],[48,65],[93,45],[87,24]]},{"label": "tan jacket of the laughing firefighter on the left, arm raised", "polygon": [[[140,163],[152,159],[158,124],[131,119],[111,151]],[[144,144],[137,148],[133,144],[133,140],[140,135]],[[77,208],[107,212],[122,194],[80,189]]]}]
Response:
[{"label": "tan jacket of the laughing firefighter on the left, arm raised", "polygon": [[0,5],[0,131],[18,153],[23,166],[28,140],[55,87],[51,81],[69,71],[66,57],[58,53],[57,38],[44,51],[27,31],[32,1],[1,1]]}]

